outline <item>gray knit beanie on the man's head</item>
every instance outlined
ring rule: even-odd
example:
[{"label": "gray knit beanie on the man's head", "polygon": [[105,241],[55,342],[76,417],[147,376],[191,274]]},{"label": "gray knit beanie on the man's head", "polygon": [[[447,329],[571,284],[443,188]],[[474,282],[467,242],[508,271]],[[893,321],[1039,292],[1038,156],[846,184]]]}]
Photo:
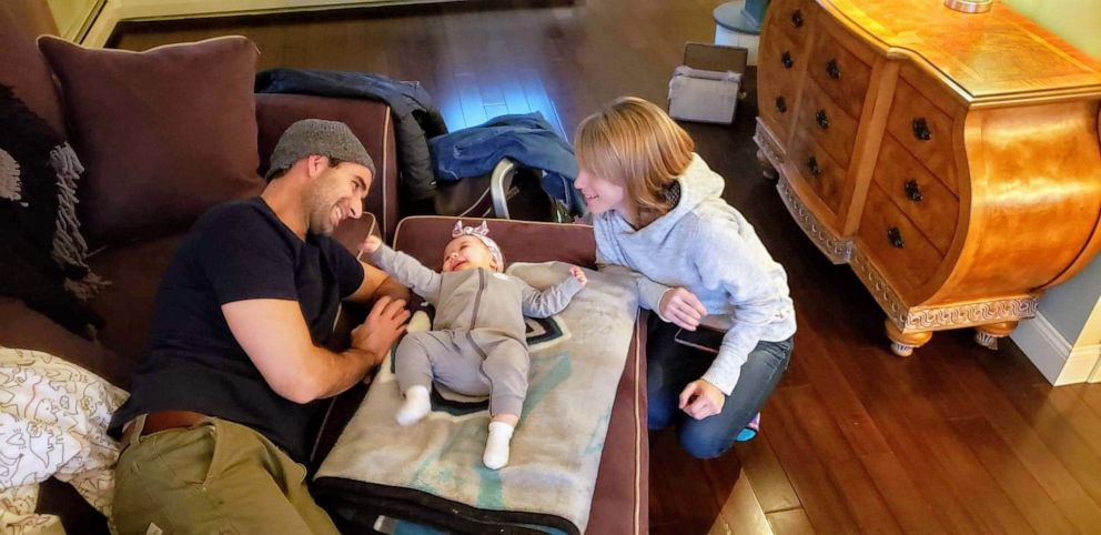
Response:
[{"label": "gray knit beanie on the man's head", "polygon": [[303,119],[291,124],[279,139],[264,178],[272,180],[273,174],[290,169],[294,162],[313,154],[358,163],[370,169],[372,176],[375,174],[375,162],[371,160],[367,150],[347,124],[340,121]]}]

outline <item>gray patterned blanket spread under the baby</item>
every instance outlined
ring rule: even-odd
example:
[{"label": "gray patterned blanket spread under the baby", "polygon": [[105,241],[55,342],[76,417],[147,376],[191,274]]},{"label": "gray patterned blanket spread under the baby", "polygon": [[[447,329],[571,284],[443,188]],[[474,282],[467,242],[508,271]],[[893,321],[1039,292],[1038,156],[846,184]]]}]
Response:
[{"label": "gray patterned blanket spread under the baby", "polygon": [[[508,272],[543,289],[568,269],[550,262]],[[637,312],[626,280],[586,274],[588,285],[555,321],[529,322],[546,332],[528,329],[531,386],[507,466],[482,464],[484,404],[452,404],[435,392],[427,417],[398,426],[402,395],[387,359],[316,475],[334,519],[391,533],[408,524],[428,528],[422,533],[583,533]]]}]

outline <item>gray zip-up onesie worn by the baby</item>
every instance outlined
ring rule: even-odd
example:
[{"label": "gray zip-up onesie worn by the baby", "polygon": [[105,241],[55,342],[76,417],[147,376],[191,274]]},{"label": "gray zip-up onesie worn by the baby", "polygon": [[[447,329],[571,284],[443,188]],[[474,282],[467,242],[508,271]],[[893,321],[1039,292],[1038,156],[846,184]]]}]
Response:
[{"label": "gray zip-up onesie worn by the baby", "polygon": [[371,261],[436,307],[432,331],[410,333],[397,345],[397,385],[489,396],[489,414],[519,415],[527,394],[529,356],[524,315],[557,314],[582,290],[573,276],[544,291],[484,269],[436,273],[416,259],[381,245]]}]

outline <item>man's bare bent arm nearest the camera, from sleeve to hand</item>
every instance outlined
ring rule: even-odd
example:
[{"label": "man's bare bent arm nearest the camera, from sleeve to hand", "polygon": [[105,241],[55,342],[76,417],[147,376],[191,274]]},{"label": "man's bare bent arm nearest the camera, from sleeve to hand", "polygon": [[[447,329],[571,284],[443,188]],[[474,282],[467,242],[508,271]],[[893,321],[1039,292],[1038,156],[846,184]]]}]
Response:
[{"label": "man's bare bent arm nearest the camera, from sleeve to hand", "polygon": [[313,344],[296,301],[234,301],[222,313],[264,381],[295,403],[334,396],[360,382],[386,356],[410,315],[404,301],[380,297],[352,332],[352,347],[333,353]]}]

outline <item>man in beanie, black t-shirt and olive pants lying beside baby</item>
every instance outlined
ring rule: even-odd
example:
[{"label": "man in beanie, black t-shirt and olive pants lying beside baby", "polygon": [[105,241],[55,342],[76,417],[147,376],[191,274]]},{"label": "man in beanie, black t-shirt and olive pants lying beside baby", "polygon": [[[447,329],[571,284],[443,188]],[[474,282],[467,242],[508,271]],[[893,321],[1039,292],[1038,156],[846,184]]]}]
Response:
[{"label": "man in beanie, black t-shirt and olive pants lying beside baby", "polygon": [[[111,422],[124,448],[119,533],[337,533],[306,489],[307,427],[317,400],[362,381],[408,319],[407,290],[330,238],[362,214],[374,171],[345,124],[299,121],[261,196],[192,228]],[[323,346],[341,299],[376,301],[352,347],[333,353]]]}]

